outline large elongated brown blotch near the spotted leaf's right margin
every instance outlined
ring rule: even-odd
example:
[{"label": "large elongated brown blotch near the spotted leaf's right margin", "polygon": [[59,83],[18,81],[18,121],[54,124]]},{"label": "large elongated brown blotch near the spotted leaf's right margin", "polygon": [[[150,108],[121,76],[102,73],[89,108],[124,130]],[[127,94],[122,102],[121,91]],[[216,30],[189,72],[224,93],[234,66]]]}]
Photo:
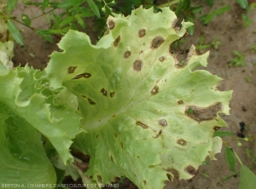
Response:
[{"label": "large elongated brown blotch near the spotted leaf's right margin", "polygon": [[187,106],[185,115],[193,118],[197,122],[213,119],[217,112],[222,110],[220,102],[208,107]]}]

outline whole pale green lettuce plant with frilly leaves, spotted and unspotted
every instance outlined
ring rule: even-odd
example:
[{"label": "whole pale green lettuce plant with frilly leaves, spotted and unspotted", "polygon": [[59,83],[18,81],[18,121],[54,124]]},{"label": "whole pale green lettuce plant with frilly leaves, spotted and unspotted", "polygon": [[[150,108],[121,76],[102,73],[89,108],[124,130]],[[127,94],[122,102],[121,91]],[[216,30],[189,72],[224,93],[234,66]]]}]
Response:
[{"label": "whole pale green lettuce plant with frilly leaves, spotted and unspotted", "polygon": [[176,22],[168,8],[114,14],[96,45],[68,31],[43,72],[2,66],[0,183],[54,184],[60,171],[51,163],[75,175],[74,149],[90,157],[87,168],[74,166],[84,183],[125,175],[139,188],[189,179],[215,159],[222,140],[213,134],[226,125],[218,114],[229,114],[232,92],[195,70],[207,66],[208,52],[192,46],[177,59],[172,43],[192,24]]}]

